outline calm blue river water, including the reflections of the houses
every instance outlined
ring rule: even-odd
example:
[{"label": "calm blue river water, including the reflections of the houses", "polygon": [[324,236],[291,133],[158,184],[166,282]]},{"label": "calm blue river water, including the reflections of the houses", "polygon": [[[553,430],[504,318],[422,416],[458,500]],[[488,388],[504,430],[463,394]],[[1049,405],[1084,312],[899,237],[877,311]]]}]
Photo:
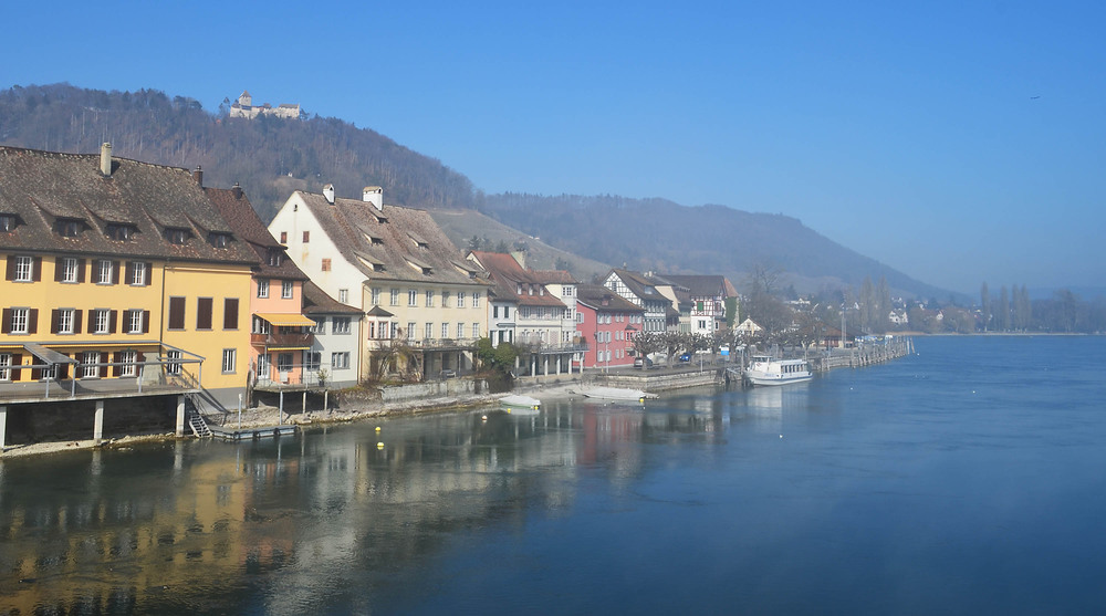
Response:
[{"label": "calm blue river water, including the reflections of the houses", "polygon": [[916,346],[645,411],[549,400],[2,461],[0,606],[1100,613],[1106,340]]}]

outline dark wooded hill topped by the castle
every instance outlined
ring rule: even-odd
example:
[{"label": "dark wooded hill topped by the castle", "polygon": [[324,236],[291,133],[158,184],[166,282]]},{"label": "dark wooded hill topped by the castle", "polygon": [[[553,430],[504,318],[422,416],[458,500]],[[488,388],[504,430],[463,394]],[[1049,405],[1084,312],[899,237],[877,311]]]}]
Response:
[{"label": "dark wooded hill topped by the castle", "polygon": [[[237,93],[228,93],[237,96]],[[204,168],[205,184],[242,185],[265,220],[294,189],[359,199],[382,186],[389,203],[471,208],[472,184],[441,161],[336,118],[229,118],[163,92],[104,92],[67,84],[0,92],[0,144],[100,152],[159,165]]]}]

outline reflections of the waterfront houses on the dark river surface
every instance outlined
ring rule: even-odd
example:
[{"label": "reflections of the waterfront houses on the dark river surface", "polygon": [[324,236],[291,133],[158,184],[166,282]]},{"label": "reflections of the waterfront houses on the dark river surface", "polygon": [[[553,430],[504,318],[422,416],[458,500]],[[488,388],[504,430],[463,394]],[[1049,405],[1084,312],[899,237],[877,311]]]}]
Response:
[{"label": "reflections of the waterfront houses on the dark river surface", "polygon": [[669,401],[561,400],[540,413],[392,419],[379,431],[0,461],[0,605],[371,609],[378,591],[458,537],[570,511],[583,473],[633,481],[641,442],[724,438],[720,399]]}]

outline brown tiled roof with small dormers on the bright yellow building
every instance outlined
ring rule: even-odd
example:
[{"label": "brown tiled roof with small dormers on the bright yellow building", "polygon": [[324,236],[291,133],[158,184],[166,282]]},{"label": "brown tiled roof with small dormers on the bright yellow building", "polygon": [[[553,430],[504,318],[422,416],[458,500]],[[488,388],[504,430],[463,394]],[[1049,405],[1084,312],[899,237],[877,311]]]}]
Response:
[{"label": "brown tiled roof with small dormers on the bright yellow building", "polygon": [[[186,169],[114,158],[105,177],[98,154],[0,146],[0,215],[19,218],[14,231],[0,232],[3,249],[258,262],[243,242],[216,248],[208,241],[211,232],[232,230]],[[79,221],[79,232],[61,236],[59,219]],[[109,225],[134,232],[126,240],[111,239]],[[186,241],[168,241],[167,228],[187,231]]]}]

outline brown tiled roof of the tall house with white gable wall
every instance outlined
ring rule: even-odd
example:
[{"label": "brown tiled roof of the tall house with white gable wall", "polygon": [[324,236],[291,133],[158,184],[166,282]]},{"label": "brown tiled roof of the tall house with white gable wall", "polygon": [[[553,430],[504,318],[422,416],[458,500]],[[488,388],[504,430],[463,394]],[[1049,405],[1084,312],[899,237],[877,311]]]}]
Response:
[{"label": "brown tiled roof of the tall house with white gable wall", "polygon": [[[455,264],[459,251],[425,210],[385,206],[380,212],[373,203],[357,199],[336,197],[331,205],[322,195],[302,190],[295,194],[342,255],[371,281],[486,285],[474,273],[462,272]],[[382,243],[374,244],[368,238]],[[411,238],[418,238],[425,248]],[[416,271],[409,263],[429,273]]]}]

